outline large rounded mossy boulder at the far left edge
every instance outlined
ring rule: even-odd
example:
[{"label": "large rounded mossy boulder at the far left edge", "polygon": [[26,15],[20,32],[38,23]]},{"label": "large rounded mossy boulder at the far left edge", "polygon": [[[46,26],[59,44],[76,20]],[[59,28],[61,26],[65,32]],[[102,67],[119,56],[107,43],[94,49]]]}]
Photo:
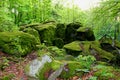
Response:
[{"label": "large rounded mossy boulder at the far left edge", "polygon": [[24,32],[0,32],[0,49],[8,54],[24,56],[36,49],[36,39]]}]

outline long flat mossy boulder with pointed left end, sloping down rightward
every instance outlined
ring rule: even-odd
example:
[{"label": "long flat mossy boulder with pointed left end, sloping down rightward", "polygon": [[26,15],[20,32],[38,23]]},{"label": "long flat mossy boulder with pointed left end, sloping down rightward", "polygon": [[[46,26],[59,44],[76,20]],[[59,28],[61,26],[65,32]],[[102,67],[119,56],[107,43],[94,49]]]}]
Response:
[{"label": "long flat mossy boulder with pointed left end, sloping down rightward", "polygon": [[111,61],[116,57],[110,52],[101,49],[98,41],[74,41],[69,44],[64,45],[68,54],[77,56],[79,54],[83,55],[93,55],[97,60]]}]

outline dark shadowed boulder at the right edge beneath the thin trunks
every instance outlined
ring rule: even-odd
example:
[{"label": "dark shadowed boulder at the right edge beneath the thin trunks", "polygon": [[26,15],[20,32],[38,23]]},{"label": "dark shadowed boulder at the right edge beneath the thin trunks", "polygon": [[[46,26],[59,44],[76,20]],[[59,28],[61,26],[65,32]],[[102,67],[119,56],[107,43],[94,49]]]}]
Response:
[{"label": "dark shadowed boulder at the right edge beneath the thin trunks", "polygon": [[100,40],[101,48],[107,52],[112,53],[115,57],[115,60],[112,63],[116,65],[120,64],[120,42],[118,40],[113,40],[109,36],[103,36]]}]

